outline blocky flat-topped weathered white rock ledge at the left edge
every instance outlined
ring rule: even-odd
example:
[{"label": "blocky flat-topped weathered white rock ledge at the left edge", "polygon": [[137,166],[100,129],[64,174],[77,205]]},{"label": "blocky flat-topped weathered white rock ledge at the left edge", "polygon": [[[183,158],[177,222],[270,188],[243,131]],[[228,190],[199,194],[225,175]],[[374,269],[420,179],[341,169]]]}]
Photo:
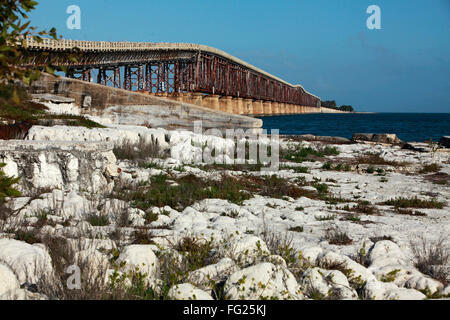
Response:
[{"label": "blocky flat-topped weathered white rock ledge at the left edge", "polygon": [[24,193],[36,189],[105,191],[118,175],[112,144],[62,141],[0,141],[0,162],[20,177]]}]

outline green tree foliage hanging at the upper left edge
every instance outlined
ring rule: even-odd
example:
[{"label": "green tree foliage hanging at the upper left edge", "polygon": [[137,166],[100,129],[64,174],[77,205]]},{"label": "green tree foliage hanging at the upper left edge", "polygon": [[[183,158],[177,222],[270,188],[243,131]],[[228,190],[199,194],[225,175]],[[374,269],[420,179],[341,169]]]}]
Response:
[{"label": "green tree foliage hanging at the upper left edge", "polygon": [[[0,6],[0,79],[3,84],[13,84],[20,80],[25,84],[39,78],[37,69],[22,68],[30,56],[26,49],[26,37],[33,37],[41,42],[43,36],[57,38],[55,28],[49,31],[37,31],[30,26],[28,13],[38,3],[34,0],[2,0]],[[51,68],[47,68],[51,72]]]}]

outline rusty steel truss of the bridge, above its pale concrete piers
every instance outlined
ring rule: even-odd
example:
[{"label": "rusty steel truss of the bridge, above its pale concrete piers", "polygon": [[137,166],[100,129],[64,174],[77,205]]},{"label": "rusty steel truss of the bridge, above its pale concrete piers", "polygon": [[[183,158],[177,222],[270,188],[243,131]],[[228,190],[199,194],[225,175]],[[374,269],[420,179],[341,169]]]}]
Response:
[{"label": "rusty steel truss of the bridge, above its pale concrete piers", "polygon": [[199,92],[320,107],[320,99],[302,86],[291,85],[217,49],[159,48],[155,44],[139,49],[101,48],[81,48],[74,62],[68,58],[71,49],[29,46],[31,65],[65,67],[68,77],[96,80],[99,84],[131,91]]}]

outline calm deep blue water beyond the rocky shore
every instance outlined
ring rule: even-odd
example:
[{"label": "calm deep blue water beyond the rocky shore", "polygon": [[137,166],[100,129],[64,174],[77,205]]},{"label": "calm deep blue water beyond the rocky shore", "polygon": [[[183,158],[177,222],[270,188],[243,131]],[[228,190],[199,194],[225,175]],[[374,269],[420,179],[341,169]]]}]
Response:
[{"label": "calm deep blue water beyond the rocky shore", "polygon": [[351,138],[353,133],[396,133],[403,141],[439,141],[450,135],[450,113],[298,114],[262,117],[280,134]]}]

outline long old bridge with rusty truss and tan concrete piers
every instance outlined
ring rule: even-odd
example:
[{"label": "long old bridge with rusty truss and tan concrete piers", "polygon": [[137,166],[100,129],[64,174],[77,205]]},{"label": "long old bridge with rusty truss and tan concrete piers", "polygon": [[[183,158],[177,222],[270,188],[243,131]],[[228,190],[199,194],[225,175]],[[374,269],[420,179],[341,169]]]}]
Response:
[{"label": "long old bridge with rusty truss and tan concrete piers", "polygon": [[[66,76],[243,115],[320,113],[321,101],[221,50],[197,44],[25,40],[30,64]],[[68,53],[77,52],[76,61]]]}]

